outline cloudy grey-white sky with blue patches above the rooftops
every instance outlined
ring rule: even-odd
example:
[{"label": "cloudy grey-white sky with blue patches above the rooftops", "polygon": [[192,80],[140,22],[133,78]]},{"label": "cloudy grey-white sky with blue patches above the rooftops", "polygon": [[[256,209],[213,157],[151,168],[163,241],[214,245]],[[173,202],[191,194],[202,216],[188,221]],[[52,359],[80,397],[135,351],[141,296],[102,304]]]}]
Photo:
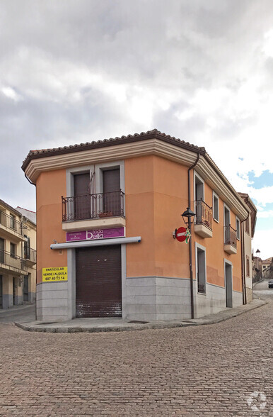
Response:
[{"label": "cloudy grey-white sky with blue patches above the rooftops", "polygon": [[272,0],[2,0],[0,199],[29,150],[157,128],[204,146],[273,255]]}]

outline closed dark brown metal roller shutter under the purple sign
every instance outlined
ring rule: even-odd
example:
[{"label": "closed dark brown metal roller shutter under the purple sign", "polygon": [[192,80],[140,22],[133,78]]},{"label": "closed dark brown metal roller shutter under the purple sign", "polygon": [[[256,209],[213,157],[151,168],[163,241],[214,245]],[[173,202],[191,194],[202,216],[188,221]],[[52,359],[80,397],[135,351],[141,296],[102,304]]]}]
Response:
[{"label": "closed dark brown metal roller shutter under the purple sign", "polygon": [[76,249],[76,317],[120,316],[120,245]]}]

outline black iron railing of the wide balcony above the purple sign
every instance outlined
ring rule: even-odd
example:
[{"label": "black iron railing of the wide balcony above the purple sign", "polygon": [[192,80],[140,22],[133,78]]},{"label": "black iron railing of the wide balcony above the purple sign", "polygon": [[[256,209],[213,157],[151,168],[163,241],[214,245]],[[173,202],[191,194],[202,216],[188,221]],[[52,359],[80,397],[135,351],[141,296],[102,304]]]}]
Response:
[{"label": "black iron railing of the wide balcony above the purple sign", "polygon": [[62,221],[124,216],[124,193],[86,194],[62,197]]}]

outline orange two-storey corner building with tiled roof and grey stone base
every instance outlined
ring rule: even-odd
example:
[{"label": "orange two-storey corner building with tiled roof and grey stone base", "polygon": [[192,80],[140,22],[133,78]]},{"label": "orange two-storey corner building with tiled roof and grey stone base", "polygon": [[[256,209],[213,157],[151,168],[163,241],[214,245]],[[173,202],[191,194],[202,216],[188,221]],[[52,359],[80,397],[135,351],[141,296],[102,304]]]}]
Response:
[{"label": "orange two-storey corner building with tiled roof and grey stone base", "polygon": [[[197,318],[245,302],[250,208],[204,148],[151,130],[30,151],[22,168],[37,191],[37,320]],[[187,207],[189,243],[175,234]]]}]

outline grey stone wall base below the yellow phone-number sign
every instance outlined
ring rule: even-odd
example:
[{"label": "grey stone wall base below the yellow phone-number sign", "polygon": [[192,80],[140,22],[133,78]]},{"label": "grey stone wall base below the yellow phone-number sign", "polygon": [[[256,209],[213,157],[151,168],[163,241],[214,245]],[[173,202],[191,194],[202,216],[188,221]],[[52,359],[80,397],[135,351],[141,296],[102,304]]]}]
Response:
[{"label": "grey stone wall base below the yellow phone-number sign", "polygon": [[38,321],[64,321],[68,316],[67,282],[37,284],[36,308]]}]

